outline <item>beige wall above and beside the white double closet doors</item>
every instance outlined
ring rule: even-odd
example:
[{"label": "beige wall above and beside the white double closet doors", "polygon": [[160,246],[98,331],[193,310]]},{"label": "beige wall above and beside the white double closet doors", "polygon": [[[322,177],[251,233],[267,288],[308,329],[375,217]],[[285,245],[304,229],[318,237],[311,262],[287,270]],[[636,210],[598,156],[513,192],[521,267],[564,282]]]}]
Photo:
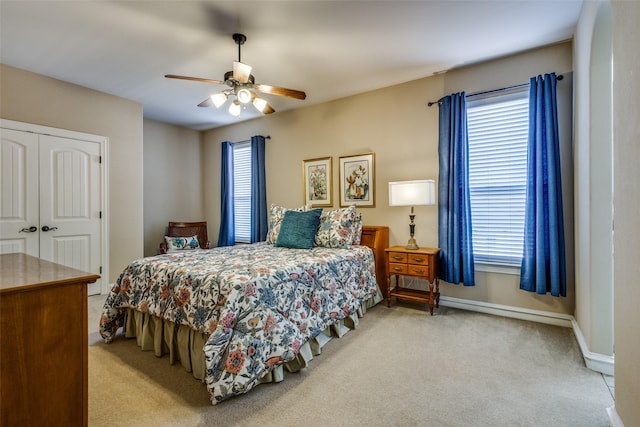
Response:
[{"label": "beige wall above and beside the white double closet doors", "polygon": [[113,283],[122,269],[143,253],[142,106],[0,65],[0,107],[3,119],[109,138],[110,264],[103,277],[104,283]]}]

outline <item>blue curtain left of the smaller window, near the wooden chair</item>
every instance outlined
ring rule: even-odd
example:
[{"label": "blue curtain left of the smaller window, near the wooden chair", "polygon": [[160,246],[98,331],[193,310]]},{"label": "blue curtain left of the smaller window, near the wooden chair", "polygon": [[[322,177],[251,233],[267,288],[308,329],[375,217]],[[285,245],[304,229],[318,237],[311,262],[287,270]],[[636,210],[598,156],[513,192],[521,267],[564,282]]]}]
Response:
[{"label": "blue curtain left of the smaller window, near the wooden chair", "polygon": [[233,246],[236,240],[233,209],[233,144],[229,141],[222,143],[221,163],[218,246]]}]

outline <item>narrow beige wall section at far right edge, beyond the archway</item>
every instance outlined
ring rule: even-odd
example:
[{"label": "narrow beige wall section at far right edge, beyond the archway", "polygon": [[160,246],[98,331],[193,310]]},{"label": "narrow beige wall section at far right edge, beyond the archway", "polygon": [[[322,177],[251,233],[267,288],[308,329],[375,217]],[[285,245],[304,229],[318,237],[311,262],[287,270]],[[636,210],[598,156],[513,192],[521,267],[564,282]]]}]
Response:
[{"label": "narrow beige wall section at far right edge, beyond the archway", "polygon": [[640,2],[612,2],[616,411],[640,426]]}]

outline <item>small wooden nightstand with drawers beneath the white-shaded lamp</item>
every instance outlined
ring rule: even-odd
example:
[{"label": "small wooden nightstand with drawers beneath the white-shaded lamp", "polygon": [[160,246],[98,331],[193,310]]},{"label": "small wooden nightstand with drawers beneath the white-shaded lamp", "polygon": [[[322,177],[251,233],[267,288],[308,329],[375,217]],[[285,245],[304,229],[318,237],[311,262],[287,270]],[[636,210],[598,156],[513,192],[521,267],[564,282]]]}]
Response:
[{"label": "small wooden nightstand with drawers beneath the white-shaded lamp", "polygon": [[[433,307],[440,306],[440,249],[406,249],[404,246],[392,246],[385,249],[387,258],[387,307],[391,306],[391,297],[429,304],[429,313],[433,316]],[[391,288],[391,277],[395,276],[396,285]],[[429,290],[402,288],[399,277],[417,277],[429,281]],[[435,289],[434,289],[435,284]]]}]

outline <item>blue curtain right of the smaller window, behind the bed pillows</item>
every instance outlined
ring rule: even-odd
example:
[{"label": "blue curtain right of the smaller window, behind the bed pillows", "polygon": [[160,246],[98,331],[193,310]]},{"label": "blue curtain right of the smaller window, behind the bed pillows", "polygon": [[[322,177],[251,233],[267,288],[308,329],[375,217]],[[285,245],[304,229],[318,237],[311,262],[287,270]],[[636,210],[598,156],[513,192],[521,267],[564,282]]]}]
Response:
[{"label": "blue curtain right of the smaller window, behind the bed pillows", "polygon": [[265,176],[265,138],[251,137],[251,243],[267,237],[267,183]]}]

